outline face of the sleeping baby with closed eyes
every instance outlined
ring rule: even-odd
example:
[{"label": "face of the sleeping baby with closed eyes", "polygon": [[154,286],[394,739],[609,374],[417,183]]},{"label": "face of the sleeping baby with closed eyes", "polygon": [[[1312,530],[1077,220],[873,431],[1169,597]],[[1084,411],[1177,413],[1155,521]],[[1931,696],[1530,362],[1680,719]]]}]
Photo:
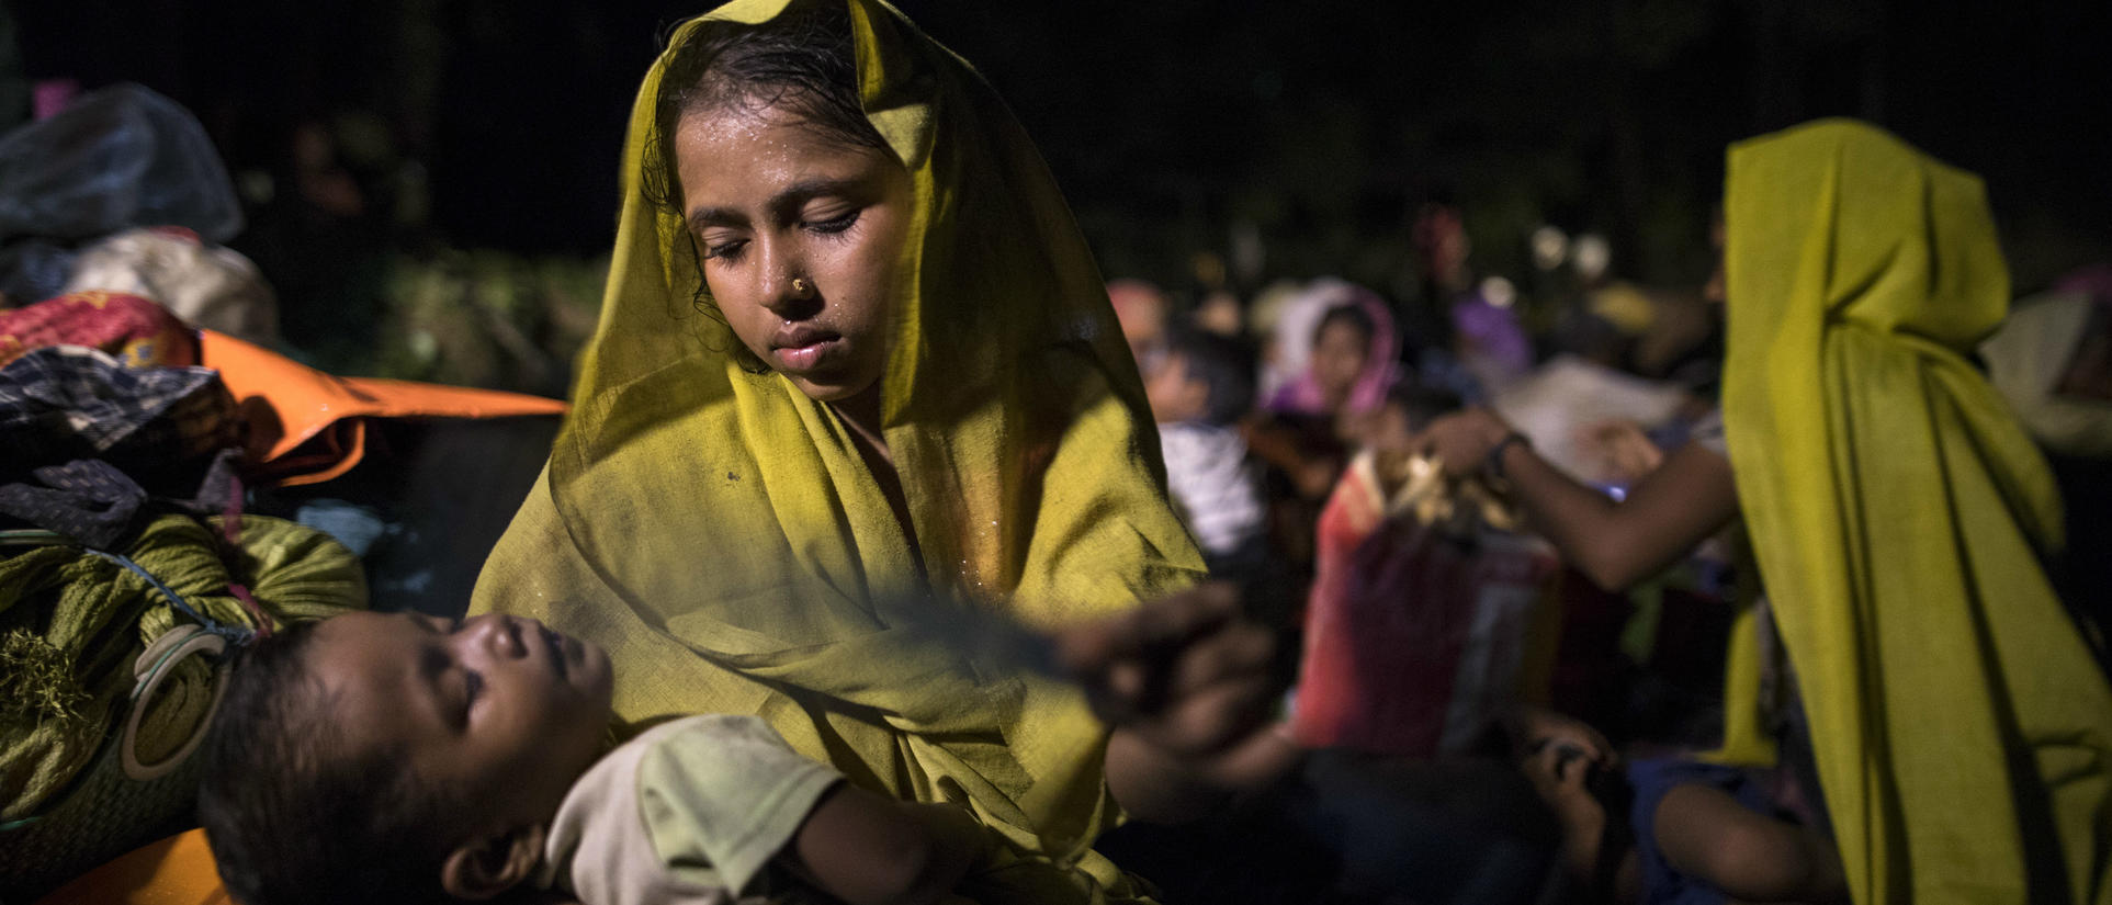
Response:
[{"label": "face of the sleeping baby with closed eyes", "polygon": [[348,745],[463,789],[484,829],[547,823],[608,726],[608,654],[532,618],[346,614],[317,627],[308,669]]}]

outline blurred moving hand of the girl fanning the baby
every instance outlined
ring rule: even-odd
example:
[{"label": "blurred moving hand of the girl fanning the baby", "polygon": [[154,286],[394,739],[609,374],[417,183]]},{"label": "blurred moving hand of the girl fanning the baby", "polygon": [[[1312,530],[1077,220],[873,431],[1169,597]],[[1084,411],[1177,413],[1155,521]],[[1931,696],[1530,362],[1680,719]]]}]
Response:
[{"label": "blurred moving hand of the girl fanning the baby", "polygon": [[1172,759],[1240,753],[1276,709],[1276,641],[1240,616],[1236,586],[1210,582],[1056,633],[1100,719]]}]

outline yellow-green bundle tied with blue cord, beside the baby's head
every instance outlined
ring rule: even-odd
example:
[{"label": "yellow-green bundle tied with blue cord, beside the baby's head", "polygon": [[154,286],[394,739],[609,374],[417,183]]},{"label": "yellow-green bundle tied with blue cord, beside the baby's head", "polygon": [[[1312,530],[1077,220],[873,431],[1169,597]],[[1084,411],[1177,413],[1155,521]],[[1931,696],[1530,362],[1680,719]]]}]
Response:
[{"label": "yellow-green bundle tied with blue cord, beside the baby's head", "polygon": [[163,515],[116,551],[4,538],[27,548],[0,559],[0,892],[63,880],[188,810],[196,776],[184,766],[226,654],[260,631],[365,608],[365,574],[342,544],[237,519],[228,532],[228,517]]}]

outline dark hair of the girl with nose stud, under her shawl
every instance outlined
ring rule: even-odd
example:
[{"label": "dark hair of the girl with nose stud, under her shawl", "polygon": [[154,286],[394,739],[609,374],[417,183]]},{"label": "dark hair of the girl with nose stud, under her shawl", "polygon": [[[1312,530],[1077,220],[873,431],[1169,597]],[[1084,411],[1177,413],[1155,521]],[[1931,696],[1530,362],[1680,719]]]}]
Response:
[{"label": "dark hair of the girl with nose stud, under her shawl", "polygon": [[[674,137],[684,116],[718,110],[788,110],[809,129],[849,148],[885,150],[887,139],[866,118],[857,97],[857,49],[845,0],[794,0],[775,19],[703,23],[667,55],[659,97],[653,99],[653,135],[644,143],[640,188],[653,205],[682,217],[682,179]],[[678,243],[699,274],[691,304],[724,321],[703,285],[695,240]],[[741,367],[769,367],[746,348],[731,350]]]}]

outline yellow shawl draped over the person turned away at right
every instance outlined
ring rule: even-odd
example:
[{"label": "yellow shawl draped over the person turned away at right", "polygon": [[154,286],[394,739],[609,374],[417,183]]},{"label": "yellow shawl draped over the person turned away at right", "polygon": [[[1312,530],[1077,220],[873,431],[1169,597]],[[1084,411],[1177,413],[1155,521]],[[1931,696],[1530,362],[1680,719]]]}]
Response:
[{"label": "yellow shawl draped over the person turned away at right", "polygon": [[1814,122],[1732,148],[1726,224],[1730,460],[1854,899],[2112,901],[2112,692],[1964,359],[2009,304],[1981,181]]}]

